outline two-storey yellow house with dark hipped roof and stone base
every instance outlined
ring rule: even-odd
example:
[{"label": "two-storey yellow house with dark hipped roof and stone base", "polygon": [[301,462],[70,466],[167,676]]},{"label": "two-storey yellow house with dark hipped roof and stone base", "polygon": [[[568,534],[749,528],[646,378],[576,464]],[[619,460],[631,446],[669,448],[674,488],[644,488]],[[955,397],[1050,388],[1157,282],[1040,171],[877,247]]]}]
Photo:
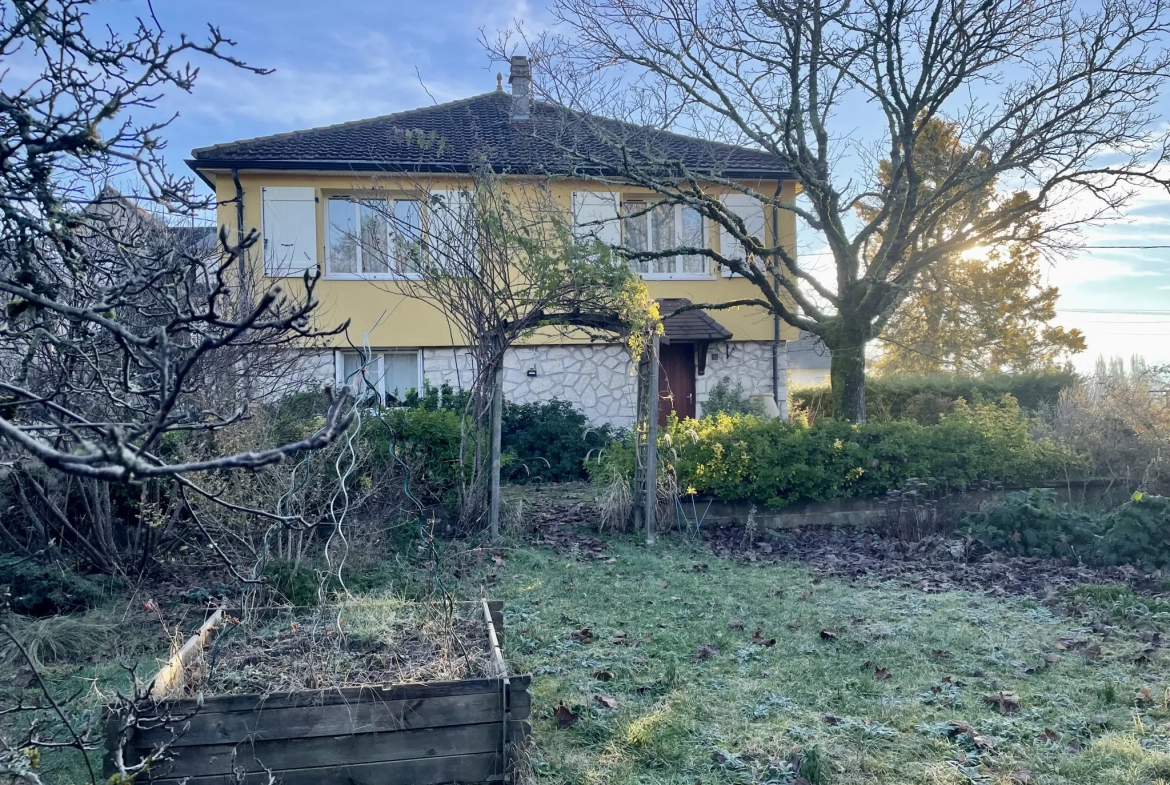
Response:
[{"label": "two-storey yellow house with dark hipped roof and stone base", "polygon": [[[326,350],[304,352],[298,369],[309,379],[346,378],[359,361],[351,346],[363,345],[366,336],[374,350],[376,376],[387,392],[424,381],[460,388],[472,378],[468,354],[443,314],[395,284],[411,276],[408,267],[374,269],[364,263],[360,247],[342,242],[345,227],[358,226],[363,237],[369,234],[371,242],[384,242],[380,234],[386,227],[364,213],[358,201],[374,184],[379,199],[393,200],[386,209],[395,221],[421,227],[432,204],[427,194],[457,192],[486,160],[505,181],[543,184],[577,226],[593,227],[591,232],[610,245],[655,250],[704,243],[734,253],[730,237],[694,211],[647,209],[655,194],[603,177],[612,173],[604,166],[583,175],[566,151],[589,150],[594,159],[611,154],[610,138],[599,135],[600,128],[620,136],[624,144],[683,161],[690,171],[742,183],[758,193],[796,198],[796,183],[760,151],[612,119],[581,122],[563,106],[531,97],[525,57],[512,58],[509,83],[510,92],[497,82],[495,91],[461,101],[193,151],[187,163],[215,191],[219,223],[232,233],[260,232],[261,248],[253,261],[262,266],[263,275],[291,278],[288,284],[296,285],[307,269],[319,269],[317,318],[322,325],[350,319],[347,337],[338,337]],[[552,133],[558,139],[550,139]],[[790,212],[765,208],[730,188],[724,193],[725,204],[749,230],[765,242],[778,232],[796,253]],[[742,246],[738,253],[743,254]],[[751,283],[717,268],[704,256],[680,255],[644,262],[639,271],[651,295],[662,301],[663,314],[686,301],[758,296]],[[710,387],[730,377],[785,415],[786,342],[797,338],[796,329],[755,307],[688,311],[667,319],[661,411],[702,415]],[[542,333],[510,350],[504,394],[517,402],[567,400],[594,424],[629,426],[635,416],[636,381],[625,347],[581,336]]]}]

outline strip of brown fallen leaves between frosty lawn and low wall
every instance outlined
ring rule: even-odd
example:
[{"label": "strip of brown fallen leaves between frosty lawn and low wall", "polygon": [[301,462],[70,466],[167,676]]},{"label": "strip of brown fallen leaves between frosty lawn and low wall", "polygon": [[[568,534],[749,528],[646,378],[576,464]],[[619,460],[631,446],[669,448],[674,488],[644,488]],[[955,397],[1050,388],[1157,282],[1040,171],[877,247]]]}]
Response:
[{"label": "strip of brown fallen leaves between frosty lawn and low wall", "polygon": [[1162,591],[1158,572],[1010,556],[970,538],[931,536],[907,543],[860,529],[803,526],[757,535],[752,542],[742,528],[724,526],[708,529],[703,539],[721,558],[765,564],[796,560],[826,577],[894,581],[924,592],[968,590],[1044,600],[1081,584],[1123,583],[1145,593]]}]

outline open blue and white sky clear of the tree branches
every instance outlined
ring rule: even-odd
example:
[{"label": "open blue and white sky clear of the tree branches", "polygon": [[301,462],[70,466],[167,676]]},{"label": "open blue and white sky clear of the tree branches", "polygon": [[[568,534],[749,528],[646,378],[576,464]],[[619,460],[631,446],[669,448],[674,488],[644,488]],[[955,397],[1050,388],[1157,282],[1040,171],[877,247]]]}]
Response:
[{"label": "open blue and white sky clear of the tree branches", "polygon": [[[125,29],[146,0],[106,0],[95,16]],[[166,131],[167,159],[184,167],[193,147],[373,117],[495,89],[481,37],[523,20],[549,27],[541,0],[154,0],[168,33],[199,35],[207,21],[238,42],[234,54],[275,69],[257,76],[204,61],[192,95],[168,95],[178,112]],[[1170,96],[1164,96],[1170,122]],[[1170,246],[1170,197],[1141,193],[1123,219],[1085,233],[1087,246]],[[820,250],[814,237],[800,247]],[[1170,364],[1170,248],[1087,248],[1045,269],[1060,288],[1058,321],[1081,329],[1092,367],[1097,354],[1140,353]]]}]

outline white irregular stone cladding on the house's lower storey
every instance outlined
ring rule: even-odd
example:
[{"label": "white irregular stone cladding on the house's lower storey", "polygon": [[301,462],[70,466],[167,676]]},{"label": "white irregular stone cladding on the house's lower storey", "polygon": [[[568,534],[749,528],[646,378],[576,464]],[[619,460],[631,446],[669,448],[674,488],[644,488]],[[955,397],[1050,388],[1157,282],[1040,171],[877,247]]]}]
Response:
[{"label": "white irregular stone cladding on the house's lower storey", "polygon": [[[696,413],[711,387],[723,377],[743,385],[744,392],[765,401],[772,415],[787,416],[786,352],[780,346],[780,406],[772,406],[772,344],[732,340],[708,349],[707,369],[695,378]],[[425,349],[420,354],[422,378],[434,387],[468,387],[475,363],[464,347]],[[333,359],[328,352],[302,356],[292,366],[308,383],[332,381]],[[591,425],[634,425],[638,379],[625,346],[617,344],[560,344],[516,346],[504,356],[504,399],[530,404],[558,398],[579,408]]]}]

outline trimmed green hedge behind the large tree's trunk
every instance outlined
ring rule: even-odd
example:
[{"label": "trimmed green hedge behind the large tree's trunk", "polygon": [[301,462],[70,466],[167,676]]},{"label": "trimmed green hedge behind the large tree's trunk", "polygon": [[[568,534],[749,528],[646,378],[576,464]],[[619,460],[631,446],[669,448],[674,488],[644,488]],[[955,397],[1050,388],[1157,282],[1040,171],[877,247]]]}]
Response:
[{"label": "trimmed green hedge behind the large tree's trunk", "polygon": [[[1021,408],[1037,411],[1057,402],[1060,391],[1076,383],[1076,374],[1064,371],[999,373],[983,377],[936,373],[931,376],[868,377],[866,411],[870,420],[909,418],[925,425],[950,412],[956,400],[999,400],[1014,398]],[[794,387],[791,402],[813,419],[833,411],[831,392],[825,387]]]}]

